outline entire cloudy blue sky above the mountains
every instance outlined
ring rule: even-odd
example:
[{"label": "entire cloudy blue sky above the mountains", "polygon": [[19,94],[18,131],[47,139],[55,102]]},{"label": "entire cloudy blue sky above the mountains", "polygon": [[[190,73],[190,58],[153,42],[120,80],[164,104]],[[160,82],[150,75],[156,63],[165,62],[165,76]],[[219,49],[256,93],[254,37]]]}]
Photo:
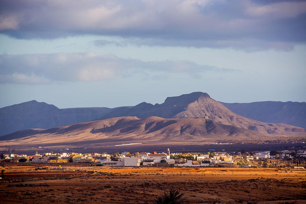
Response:
[{"label": "entire cloudy blue sky above the mountains", "polygon": [[306,1],[0,1],[0,107],[306,101]]}]

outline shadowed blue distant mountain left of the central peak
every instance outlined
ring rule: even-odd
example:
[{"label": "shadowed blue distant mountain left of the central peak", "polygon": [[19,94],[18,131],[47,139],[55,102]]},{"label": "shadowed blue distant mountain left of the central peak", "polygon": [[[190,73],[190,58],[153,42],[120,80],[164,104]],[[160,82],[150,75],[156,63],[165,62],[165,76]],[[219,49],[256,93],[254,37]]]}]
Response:
[{"label": "shadowed blue distant mountain left of the central peak", "polygon": [[36,100],[0,108],[0,135],[32,128],[53,128],[91,121],[112,108],[64,108]]}]

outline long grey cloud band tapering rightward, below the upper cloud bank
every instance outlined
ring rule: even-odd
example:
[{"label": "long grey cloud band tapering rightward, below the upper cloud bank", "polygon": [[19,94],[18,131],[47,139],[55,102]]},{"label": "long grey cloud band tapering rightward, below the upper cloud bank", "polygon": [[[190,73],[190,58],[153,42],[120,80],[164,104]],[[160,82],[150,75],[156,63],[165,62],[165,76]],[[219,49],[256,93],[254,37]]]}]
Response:
[{"label": "long grey cloud band tapering rightward, below the upper cloud bank", "polygon": [[192,61],[151,61],[124,59],[101,53],[51,53],[0,55],[0,83],[45,84],[91,82],[114,78],[142,77],[161,80],[170,74],[199,78],[205,72],[231,69],[199,65]]}]

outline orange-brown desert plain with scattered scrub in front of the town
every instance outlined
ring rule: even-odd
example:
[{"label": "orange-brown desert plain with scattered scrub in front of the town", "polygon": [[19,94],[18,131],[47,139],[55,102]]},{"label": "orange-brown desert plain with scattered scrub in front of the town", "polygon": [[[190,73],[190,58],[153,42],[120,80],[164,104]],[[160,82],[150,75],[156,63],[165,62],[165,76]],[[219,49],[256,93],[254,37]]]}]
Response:
[{"label": "orange-brown desert plain with scattered scrub in front of the town", "polygon": [[61,167],[2,166],[1,203],[152,203],[170,189],[188,203],[306,202],[306,169]]}]

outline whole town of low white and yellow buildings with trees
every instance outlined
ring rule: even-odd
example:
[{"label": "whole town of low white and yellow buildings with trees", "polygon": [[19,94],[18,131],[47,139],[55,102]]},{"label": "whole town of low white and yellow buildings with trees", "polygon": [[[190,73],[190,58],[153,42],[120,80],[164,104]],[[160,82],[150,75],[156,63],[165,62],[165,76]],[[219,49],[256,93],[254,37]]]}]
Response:
[{"label": "whole town of low white and yellow buildings with trees", "polygon": [[62,152],[25,154],[1,154],[1,163],[87,163],[93,166],[151,166],[151,167],[242,167],[271,168],[294,167],[304,168],[306,150],[297,151],[253,151],[204,153],[171,153],[166,152],[122,152],[122,153],[75,153]]}]

